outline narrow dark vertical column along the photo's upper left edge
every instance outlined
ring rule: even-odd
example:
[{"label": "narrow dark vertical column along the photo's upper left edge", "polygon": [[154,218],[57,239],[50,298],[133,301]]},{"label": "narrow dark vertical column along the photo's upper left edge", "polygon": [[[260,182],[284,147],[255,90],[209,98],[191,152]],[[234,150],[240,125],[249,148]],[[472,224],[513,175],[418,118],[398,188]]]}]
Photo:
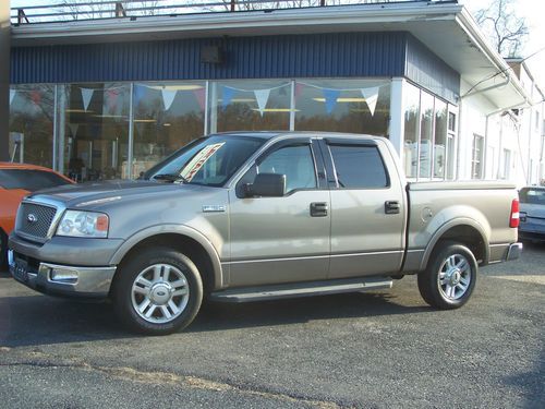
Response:
[{"label": "narrow dark vertical column along the photo's upper left edge", "polygon": [[10,0],[0,1],[0,160],[9,160]]}]

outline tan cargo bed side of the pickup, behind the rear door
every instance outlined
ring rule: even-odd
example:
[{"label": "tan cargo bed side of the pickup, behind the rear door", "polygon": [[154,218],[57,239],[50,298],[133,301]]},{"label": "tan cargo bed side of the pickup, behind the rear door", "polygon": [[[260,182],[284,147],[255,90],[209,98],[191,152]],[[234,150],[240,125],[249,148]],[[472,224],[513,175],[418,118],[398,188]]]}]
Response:
[{"label": "tan cargo bed side of the pickup, behind the rear door", "polygon": [[403,272],[425,268],[435,244],[455,240],[481,265],[505,260],[517,229],[509,227],[514,184],[506,182],[416,182],[407,185],[409,224]]}]

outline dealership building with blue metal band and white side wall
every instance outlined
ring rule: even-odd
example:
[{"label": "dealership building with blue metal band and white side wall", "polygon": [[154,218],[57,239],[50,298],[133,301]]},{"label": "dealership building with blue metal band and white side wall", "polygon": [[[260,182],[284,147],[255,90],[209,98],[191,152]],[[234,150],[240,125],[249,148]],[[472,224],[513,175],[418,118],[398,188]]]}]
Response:
[{"label": "dealership building with blue metal band and white side wall", "polygon": [[457,1],[148,16],[123,4],[63,22],[13,11],[11,159],[134,179],[202,135],[283,130],[388,137],[411,180],[545,175],[543,93]]}]

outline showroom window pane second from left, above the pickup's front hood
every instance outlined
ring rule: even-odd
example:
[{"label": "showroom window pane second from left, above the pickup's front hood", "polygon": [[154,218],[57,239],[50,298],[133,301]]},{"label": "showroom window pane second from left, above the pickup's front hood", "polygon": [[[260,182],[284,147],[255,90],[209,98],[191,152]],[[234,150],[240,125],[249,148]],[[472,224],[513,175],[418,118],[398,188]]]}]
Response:
[{"label": "showroom window pane second from left, above the pickup's front hood", "polygon": [[75,181],[126,178],[129,84],[58,87],[58,169]]}]

